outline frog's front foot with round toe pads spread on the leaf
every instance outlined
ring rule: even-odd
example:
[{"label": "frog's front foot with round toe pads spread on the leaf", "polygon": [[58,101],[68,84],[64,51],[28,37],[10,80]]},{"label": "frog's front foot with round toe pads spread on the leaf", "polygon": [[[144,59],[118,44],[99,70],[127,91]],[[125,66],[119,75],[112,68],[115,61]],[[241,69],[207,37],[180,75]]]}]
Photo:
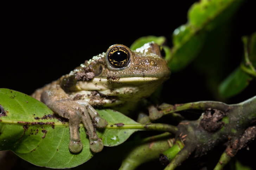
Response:
[{"label": "frog's front foot with round toe pads spread on the leaf", "polygon": [[[89,113],[91,113],[93,109],[91,106],[85,106],[70,100],[61,100],[52,102],[50,107],[53,108],[52,110],[55,113],[69,119],[70,152],[78,153],[83,149],[83,144],[79,136],[79,124],[81,121],[86,129],[86,134],[89,136],[90,149],[93,152],[100,152],[103,149],[103,142],[98,137],[94,124],[96,124],[97,127],[103,128],[108,123],[101,118],[98,113],[98,116],[95,116],[94,113],[94,116],[90,117]],[[92,122],[94,122],[94,124]]]}]

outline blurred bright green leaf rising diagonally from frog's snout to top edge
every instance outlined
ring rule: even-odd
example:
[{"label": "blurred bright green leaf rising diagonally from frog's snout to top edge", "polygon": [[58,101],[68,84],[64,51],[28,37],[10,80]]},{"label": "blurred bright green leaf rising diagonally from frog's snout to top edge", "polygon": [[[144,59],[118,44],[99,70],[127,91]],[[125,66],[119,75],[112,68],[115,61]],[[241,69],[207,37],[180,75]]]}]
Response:
[{"label": "blurred bright green leaf rising diagonally from frog's snout to top edge", "polygon": [[242,0],[202,0],[188,11],[188,22],[174,30],[171,55],[167,57],[172,72],[178,72],[193,61],[207,34],[225,23],[236,11]]}]

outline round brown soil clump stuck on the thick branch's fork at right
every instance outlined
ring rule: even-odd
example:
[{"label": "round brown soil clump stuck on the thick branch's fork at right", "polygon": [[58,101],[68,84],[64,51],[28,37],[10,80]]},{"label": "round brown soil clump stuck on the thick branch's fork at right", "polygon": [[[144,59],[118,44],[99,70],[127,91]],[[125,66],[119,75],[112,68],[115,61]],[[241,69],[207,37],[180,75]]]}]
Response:
[{"label": "round brown soil clump stuck on the thick branch's fork at right", "polygon": [[224,116],[224,112],[208,108],[200,121],[200,126],[208,132],[215,132],[224,125],[224,122],[221,121]]}]

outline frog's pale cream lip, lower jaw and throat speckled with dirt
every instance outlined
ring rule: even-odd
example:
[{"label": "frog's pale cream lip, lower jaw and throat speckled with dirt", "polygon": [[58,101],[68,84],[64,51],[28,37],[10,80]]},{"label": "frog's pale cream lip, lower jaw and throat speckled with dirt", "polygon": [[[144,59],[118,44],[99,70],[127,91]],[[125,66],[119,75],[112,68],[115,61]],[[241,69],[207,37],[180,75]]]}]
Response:
[{"label": "frog's pale cream lip, lower jaw and throat speckled with dirt", "polygon": [[101,94],[116,96],[122,101],[138,101],[148,97],[168,77],[108,77],[78,82],[81,90],[96,90]]}]

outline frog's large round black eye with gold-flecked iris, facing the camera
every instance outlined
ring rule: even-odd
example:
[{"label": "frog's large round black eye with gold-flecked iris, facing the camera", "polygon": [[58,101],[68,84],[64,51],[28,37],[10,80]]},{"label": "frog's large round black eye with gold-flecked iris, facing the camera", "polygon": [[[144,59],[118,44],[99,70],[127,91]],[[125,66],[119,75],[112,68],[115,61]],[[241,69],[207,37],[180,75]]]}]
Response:
[{"label": "frog's large round black eye with gold-flecked iris, facing the camera", "polygon": [[124,47],[113,47],[107,54],[109,63],[116,68],[124,67],[130,60],[130,53]]}]

